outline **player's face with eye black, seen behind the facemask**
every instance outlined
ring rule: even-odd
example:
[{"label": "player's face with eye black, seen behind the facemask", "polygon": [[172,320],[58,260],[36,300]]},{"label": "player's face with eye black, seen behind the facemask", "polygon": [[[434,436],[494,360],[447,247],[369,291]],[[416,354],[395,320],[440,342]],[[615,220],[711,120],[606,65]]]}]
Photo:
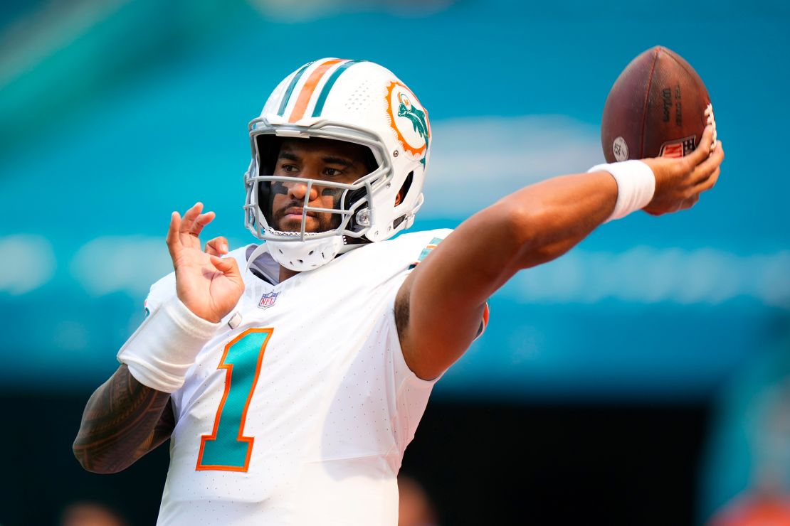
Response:
[{"label": "player's face with eye black, seen behind the facemask", "polygon": [[[366,150],[359,144],[329,139],[284,140],[274,166],[275,176],[302,177],[350,184],[370,171]],[[272,226],[284,232],[302,229],[302,208],[307,181],[272,183]],[[338,209],[343,190],[314,184],[307,203],[310,207]],[[325,232],[340,225],[340,215],[307,212],[306,232]]]}]

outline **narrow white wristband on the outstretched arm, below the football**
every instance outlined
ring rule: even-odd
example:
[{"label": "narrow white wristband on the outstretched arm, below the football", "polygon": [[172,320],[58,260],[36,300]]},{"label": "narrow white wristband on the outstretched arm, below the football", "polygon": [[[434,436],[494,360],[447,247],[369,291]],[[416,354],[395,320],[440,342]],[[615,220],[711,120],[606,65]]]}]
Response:
[{"label": "narrow white wristband on the outstretched arm, below the football", "polygon": [[641,161],[611,162],[592,166],[589,172],[609,172],[617,181],[617,203],[615,210],[606,220],[624,218],[631,212],[641,210],[653,200],[656,192],[656,176],[653,170]]}]

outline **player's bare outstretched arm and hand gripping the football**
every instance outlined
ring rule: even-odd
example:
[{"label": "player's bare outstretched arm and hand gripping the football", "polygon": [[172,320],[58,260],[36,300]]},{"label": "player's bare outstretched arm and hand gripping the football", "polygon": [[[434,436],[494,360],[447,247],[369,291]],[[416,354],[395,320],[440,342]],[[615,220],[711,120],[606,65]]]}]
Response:
[{"label": "player's bare outstretched arm and hand gripping the football", "polygon": [[[720,174],[724,150],[718,144],[711,153],[713,145],[709,126],[697,151],[682,159],[632,161],[638,172],[631,178],[614,177],[611,165],[553,177],[461,223],[398,290],[395,319],[409,368],[422,379],[446,371],[476,337],[484,304],[497,289],[519,270],[562,256],[608,218],[636,203],[652,215],[693,206]],[[639,180],[654,182],[654,191],[642,192],[634,185]]]}]

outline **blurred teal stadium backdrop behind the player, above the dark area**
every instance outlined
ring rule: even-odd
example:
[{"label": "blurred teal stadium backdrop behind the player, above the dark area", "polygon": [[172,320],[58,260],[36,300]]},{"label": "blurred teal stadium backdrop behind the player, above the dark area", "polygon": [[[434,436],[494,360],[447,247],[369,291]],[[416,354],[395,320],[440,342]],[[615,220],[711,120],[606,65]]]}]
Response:
[{"label": "blurred teal stadium backdrop behind the player, above the dark area", "polygon": [[[661,44],[707,84],[727,151],[719,184],[690,211],[608,224],[518,274],[436,396],[704,404],[723,415],[713,431],[735,429],[730,387],[788,351],[788,29],[778,0],[4,4],[0,382],[103,382],[149,285],[170,270],[172,210],[201,200],[217,213],[207,236],[254,242],[246,123],[304,62],[380,62],[419,96],[434,149],[413,229],[428,229],[602,162],[608,90]],[[736,442],[709,451],[701,517],[745,484],[748,457],[734,471],[717,461]]]}]

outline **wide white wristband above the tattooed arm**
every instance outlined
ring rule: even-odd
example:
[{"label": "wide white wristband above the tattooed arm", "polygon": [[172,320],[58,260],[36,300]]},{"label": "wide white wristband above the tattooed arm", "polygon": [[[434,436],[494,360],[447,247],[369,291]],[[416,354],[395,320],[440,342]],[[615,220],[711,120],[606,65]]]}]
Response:
[{"label": "wide white wristband above the tattooed arm", "polygon": [[222,323],[211,323],[186,308],[178,297],[149,315],[123,344],[118,360],[144,386],[172,393]]}]

